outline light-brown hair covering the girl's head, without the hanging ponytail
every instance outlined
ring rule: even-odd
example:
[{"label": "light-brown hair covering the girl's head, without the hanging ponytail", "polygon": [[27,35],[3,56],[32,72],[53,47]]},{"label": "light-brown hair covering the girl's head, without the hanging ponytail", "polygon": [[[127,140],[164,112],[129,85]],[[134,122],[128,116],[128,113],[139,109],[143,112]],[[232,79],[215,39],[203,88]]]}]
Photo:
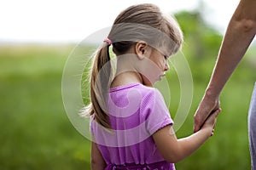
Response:
[{"label": "light-brown hair covering the girl's head, without the hanging ponytail", "polygon": [[177,21],[150,3],[133,5],[122,11],[114,20],[108,38],[113,42],[115,54],[125,54],[137,42],[145,41],[153,48],[168,49],[166,52],[171,55],[183,42]]}]

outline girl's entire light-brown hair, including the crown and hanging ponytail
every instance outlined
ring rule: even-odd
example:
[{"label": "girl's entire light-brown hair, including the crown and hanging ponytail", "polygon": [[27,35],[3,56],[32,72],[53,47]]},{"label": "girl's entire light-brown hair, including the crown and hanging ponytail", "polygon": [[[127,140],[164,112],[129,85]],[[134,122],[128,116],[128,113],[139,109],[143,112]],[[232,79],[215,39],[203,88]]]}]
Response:
[{"label": "girl's entire light-brown hair, including the crown and hanging ponytail", "polygon": [[[114,20],[108,38],[112,41],[113,53],[125,54],[137,41],[145,41],[152,47],[163,44],[175,54],[183,42],[183,34],[177,21],[160,12],[150,3],[133,5],[122,11]],[[159,41],[160,40],[160,41]],[[108,89],[113,80],[109,56],[109,42],[103,42],[94,56],[90,74],[90,105],[86,111],[94,115],[96,122],[111,128],[108,119]]]}]

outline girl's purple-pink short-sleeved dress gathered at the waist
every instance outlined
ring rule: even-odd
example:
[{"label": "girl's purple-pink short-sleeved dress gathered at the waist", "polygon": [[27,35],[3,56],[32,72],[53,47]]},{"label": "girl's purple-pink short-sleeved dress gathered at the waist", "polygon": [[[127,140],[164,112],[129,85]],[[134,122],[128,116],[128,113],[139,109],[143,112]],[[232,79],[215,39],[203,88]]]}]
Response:
[{"label": "girl's purple-pink short-sleeved dress gathered at the waist", "polygon": [[[173,124],[165,101],[156,88],[132,83],[111,88],[108,114],[112,130],[91,117],[90,132],[108,169],[175,169],[160,156],[152,134]],[[172,153],[171,153],[172,154]]]}]

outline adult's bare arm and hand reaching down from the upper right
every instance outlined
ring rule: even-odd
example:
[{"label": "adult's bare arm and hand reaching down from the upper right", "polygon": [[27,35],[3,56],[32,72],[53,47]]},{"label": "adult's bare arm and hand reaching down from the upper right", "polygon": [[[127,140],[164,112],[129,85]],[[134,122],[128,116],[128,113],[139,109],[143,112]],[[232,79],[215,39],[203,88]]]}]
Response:
[{"label": "adult's bare arm and hand reaching down from the upper right", "polygon": [[219,95],[241,61],[256,32],[256,0],[241,0],[230,19],[201,104],[195,112],[197,132],[212,111],[219,107]]}]

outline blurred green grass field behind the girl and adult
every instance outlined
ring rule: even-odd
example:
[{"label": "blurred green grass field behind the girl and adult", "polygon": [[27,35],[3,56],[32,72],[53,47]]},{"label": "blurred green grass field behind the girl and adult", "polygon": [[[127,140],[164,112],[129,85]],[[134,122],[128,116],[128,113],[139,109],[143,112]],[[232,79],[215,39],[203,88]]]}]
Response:
[{"label": "blurred green grass field behind the girl and adult", "polygon": [[[90,141],[69,122],[61,99],[62,70],[73,47],[0,47],[1,170],[90,169]],[[214,59],[190,63],[194,97],[189,116],[177,131],[178,138],[192,133],[193,115],[213,65]],[[207,69],[198,76],[202,68]],[[250,169],[247,110],[254,73],[255,67],[242,60],[221,95],[223,111],[214,136],[195,154],[178,162],[177,169]],[[172,99],[171,112],[177,108],[177,98]]]}]

